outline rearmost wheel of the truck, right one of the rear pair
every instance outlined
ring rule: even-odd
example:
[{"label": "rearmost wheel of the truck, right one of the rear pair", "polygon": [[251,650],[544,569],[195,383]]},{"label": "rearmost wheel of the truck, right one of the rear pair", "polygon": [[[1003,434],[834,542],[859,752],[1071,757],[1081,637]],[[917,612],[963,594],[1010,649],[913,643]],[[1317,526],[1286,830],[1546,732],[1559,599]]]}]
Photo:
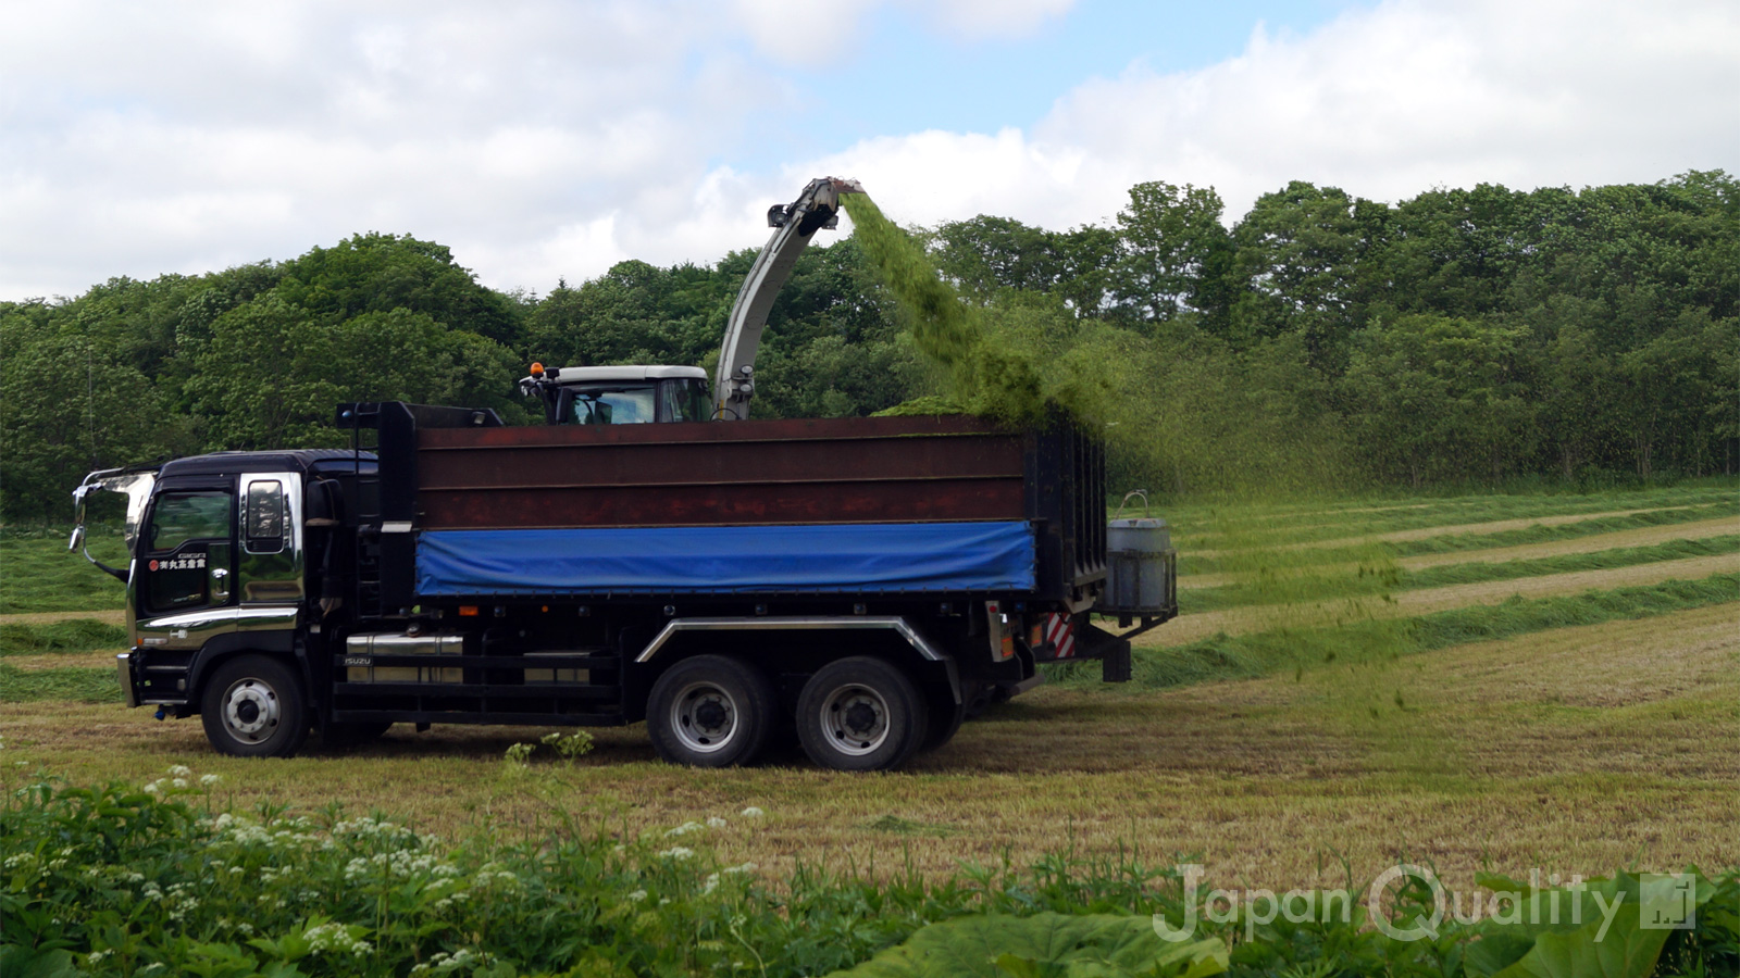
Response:
[{"label": "rearmost wheel of the truck, right one of the rear pair", "polygon": [[853,656],[809,677],[797,698],[804,754],[835,771],[887,771],[924,745],[926,705],[894,665]]}]

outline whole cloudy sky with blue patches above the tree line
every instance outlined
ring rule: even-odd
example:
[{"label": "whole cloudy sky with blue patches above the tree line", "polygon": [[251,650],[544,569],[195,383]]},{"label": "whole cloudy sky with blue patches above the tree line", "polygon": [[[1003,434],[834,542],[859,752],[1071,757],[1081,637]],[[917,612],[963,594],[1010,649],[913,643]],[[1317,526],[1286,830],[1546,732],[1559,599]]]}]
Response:
[{"label": "whole cloudy sky with blue patches above the tree line", "polygon": [[355,231],[498,289],[710,263],[858,178],[903,223],[1235,219],[1307,179],[1740,172],[1735,0],[0,0],[0,299]]}]

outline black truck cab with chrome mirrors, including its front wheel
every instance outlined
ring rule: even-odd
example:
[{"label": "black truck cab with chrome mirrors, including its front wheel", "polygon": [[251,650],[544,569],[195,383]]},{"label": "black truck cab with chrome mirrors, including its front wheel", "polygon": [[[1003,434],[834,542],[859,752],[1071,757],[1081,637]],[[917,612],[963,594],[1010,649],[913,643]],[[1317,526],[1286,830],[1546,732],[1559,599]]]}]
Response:
[{"label": "black truck cab with chrome mirrors, including its front wheel", "polygon": [[308,726],[304,700],[237,667],[270,658],[298,689],[329,677],[308,639],[358,585],[357,548],[336,534],[336,515],[372,505],[358,489],[372,486],[374,472],[372,454],[299,449],[90,473],[75,492],[75,546],[92,492],[129,498],[129,566],[103,567],[127,585],[137,653],[120,658],[127,705],[204,713],[207,733],[233,754],[294,748]]}]

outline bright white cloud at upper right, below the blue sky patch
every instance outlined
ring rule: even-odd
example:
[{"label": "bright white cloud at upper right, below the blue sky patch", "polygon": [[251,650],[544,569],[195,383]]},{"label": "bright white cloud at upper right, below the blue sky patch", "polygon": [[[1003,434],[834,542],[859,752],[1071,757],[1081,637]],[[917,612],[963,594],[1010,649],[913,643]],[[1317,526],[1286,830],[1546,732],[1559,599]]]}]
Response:
[{"label": "bright white cloud at upper right, below the blue sky patch", "polygon": [[1401,200],[1735,172],[1733,50],[1728,3],[1394,2],[1305,37],[1258,28],[1201,71],[1086,82],[1028,132],[877,137],[807,169],[849,171],[908,223],[1054,228],[1105,221],[1147,179],[1213,184],[1235,219],[1289,179]]}]

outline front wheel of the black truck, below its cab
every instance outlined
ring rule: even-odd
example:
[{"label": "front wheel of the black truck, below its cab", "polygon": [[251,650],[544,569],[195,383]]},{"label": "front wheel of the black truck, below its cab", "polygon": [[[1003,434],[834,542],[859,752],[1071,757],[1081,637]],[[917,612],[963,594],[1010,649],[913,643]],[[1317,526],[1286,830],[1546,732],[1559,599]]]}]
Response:
[{"label": "front wheel of the black truck, below its cab", "polygon": [[284,660],[237,656],[205,680],[200,722],[218,754],[291,757],[308,738],[308,700]]}]

